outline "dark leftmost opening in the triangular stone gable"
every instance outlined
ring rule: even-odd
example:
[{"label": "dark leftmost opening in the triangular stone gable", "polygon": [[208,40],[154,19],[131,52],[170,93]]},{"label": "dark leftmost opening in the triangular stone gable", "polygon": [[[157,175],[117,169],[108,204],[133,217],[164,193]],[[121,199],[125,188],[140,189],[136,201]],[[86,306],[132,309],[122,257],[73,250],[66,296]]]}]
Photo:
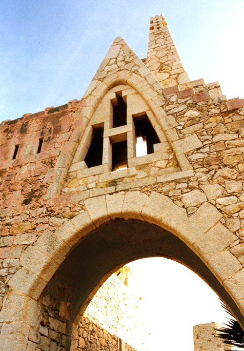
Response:
[{"label": "dark leftmost opening in the triangular stone gable", "polygon": [[103,128],[94,128],[91,145],[84,159],[88,168],[102,165],[102,148]]}]

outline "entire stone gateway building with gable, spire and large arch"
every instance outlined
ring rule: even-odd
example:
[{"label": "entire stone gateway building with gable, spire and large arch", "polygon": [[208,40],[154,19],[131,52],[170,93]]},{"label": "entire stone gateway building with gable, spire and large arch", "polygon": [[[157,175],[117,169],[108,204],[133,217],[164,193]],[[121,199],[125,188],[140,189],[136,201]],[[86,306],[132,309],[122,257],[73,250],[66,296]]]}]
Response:
[{"label": "entire stone gateway building with gable, spire and large arch", "polygon": [[2,351],[77,350],[94,294],[151,256],[195,271],[244,325],[244,99],[190,81],[151,21],[146,60],[118,37],[80,101],[0,124]]}]

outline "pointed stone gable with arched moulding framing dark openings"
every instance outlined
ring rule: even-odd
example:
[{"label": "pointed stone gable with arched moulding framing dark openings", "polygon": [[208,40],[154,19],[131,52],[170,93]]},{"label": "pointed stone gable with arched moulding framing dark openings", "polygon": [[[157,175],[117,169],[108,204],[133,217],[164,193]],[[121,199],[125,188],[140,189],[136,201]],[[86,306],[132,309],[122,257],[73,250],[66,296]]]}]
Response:
[{"label": "pointed stone gable with arched moulding framing dark openings", "polygon": [[[119,96],[127,103],[127,122],[115,128],[113,126],[113,107],[116,106]],[[127,142],[126,162],[128,169],[150,164],[151,167],[154,167],[151,175],[163,177],[181,173],[185,171],[185,167],[188,170],[191,169],[186,158],[185,162],[182,162],[182,157],[180,157],[180,162],[177,160],[163,131],[164,125],[166,129],[175,125],[174,122],[172,125],[172,118],[167,117],[163,111],[162,85],[122,37],[116,38],[112,43],[87,88],[83,100],[85,103],[82,123],[84,133],[69,173],[79,171],[79,177],[82,178],[113,172],[113,155],[115,154],[113,149],[117,150],[115,146],[119,145],[115,144],[122,144],[125,141]],[[155,142],[153,154],[136,157],[135,143],[138,131],[135,131],[133,120],[135,122],[136,119],[143,118],[143,116],[150,121],[159,139]],[[140,125],[140,122],[138,124]],[[92,140],[95,135],[99,138],[101,128],[103,129],[103,140],[100,144],[95,142],[94,146]],[[91,155],[95,155],[91,156],[92,161],[94,157],[98,156],[97,158],[99,158],[99,163],[96,164],[89,161],[86,155],[89,155],[91,148],[96,150],[98,145],[100,145],[100,151],[101,148],[103,149],[102,156],[98,155],[101,154],[100,151],[96,154],[94,151],[93,154],[91,153]],[[118,158],[118,162],[119,160]],[[87,163],[89,163],[88,166]],[[159,166],[158,171],[156,164]],[[176,177],[178,178],[180,175]]]}]

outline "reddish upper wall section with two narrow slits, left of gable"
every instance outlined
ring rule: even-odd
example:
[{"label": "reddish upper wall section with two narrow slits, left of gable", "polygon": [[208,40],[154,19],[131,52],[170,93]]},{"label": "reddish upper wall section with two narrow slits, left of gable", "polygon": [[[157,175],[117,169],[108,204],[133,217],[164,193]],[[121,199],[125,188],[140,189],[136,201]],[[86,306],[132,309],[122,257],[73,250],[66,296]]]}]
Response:
[{"label": "reddish upper wall section with two narrow slits, left of gable", "polygon": [[[81,127],[83,102],[72,100],[0,124],[0,169],[58,156]],[[78,116],[79,115],[79,116]],[[72,134],[73,133],[73,134]]]}]

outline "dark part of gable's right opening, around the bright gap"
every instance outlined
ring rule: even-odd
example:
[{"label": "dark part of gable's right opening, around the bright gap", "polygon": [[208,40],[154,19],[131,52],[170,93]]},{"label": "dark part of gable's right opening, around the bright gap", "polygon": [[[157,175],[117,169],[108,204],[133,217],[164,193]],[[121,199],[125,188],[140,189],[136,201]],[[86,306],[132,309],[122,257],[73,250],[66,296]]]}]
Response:
[{"label": "dark part of gable's right opening, around the bright gap", "polygon": [[134,123],[136,137],[142,137],[146,141],[147,155],[153,154],[153,145],[160,143],[160,140],[149,118],[146,115],[134,117]]}]

